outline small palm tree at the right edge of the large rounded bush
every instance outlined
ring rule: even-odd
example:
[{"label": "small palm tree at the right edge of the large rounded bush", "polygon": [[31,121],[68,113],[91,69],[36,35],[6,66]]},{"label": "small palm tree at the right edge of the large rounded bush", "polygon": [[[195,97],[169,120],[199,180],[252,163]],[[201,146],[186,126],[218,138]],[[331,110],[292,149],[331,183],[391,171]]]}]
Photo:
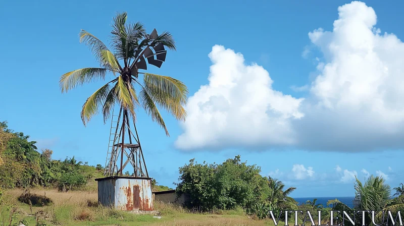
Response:
[{"label": "small palm tree at the right edge of the large rounded bush", "polygon": [[290,187],[286,190],[285,185],[278,181],[277,179],[273,179],[268,177],[268,186],[270,188],[270,195],[268,197],[268,201],[272,204],[275,204],[279,207],[288,207],[288,206],[295,206],[296,201],[289,197],[290,193],[292,193],[296,188]]}]

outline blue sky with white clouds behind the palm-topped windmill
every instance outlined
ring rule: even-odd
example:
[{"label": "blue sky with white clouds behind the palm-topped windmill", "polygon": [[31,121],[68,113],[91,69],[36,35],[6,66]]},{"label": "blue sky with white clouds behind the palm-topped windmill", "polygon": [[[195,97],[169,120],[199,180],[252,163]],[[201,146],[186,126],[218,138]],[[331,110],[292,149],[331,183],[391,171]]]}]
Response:
[{"label": "blue sky with white clouds behind the palm-topped windmill", "polygon": [[59,78],[98,66],[80,29],[108,43],[112,17],[126,11],[150,32],[173,34],[177,51],[149,72],[189,88],[185,124],[163,115],[170,137],[138,112],[149,175],[160,184],[174,187],[191,158],[240,154],[297,187],[294,197],[353,196],[355,175],[368,173],[396,187],[404,176],[403,3],[349,3],[3,1],[0,120],[56,159],[104,165],[109,123],[80,119],[103,82],[62,94]]}]

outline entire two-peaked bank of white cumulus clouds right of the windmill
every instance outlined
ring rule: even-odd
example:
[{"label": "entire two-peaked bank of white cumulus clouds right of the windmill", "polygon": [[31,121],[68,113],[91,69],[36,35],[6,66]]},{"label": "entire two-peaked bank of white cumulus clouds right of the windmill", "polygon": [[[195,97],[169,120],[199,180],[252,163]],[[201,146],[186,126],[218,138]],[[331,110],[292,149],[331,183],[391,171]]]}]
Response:
[{"label": "entire two-peaked bank of white cumulus clouds right of the windmill", "polygon": [[338,8],[332,31],[309,33],[323,60],[306,99],[274,90],[268,71],[245,64],[241,53],[215,45],[209,54],[209,84],[189,97],[176,146],[402,148],[404,43],[382,34],[376,22],[373,8],[352,2]]}]

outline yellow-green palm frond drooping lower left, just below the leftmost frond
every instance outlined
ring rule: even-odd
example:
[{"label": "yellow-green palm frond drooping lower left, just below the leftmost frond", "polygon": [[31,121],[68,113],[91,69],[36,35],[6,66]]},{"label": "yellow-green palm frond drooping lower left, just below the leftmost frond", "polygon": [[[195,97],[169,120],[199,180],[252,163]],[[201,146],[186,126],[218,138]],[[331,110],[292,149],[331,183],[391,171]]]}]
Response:
[{"label": "yellow-green palm frond drooping lower left, just below the leftmost frond", "polygon": [[83,121],[84,126],[95,114],[97,114],[98,107],[103,105],[109,92],[110,84],[107,83],[87,98],[81,110],[81,120]]}]

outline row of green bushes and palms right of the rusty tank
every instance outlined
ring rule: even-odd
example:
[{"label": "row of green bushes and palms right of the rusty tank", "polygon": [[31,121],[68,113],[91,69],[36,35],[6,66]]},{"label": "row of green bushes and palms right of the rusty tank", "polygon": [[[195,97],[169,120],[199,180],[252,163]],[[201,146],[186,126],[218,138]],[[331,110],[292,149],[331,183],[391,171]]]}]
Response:
[{"label": "row of green bushes and palms right of the rusty tank", "polygon": [[[270,210],[275,216],[281,214],[280,219],[284,219],[284,210],[310,211],[313,217],[318,217],[318,210],[322,210],[322,218],[329,219],[332,210],[350,213],[354,210],[375,210],[377,222],[382,222],[382,211],[389,210],[394,214],[400,211],[404,219],[404,185],[401,183],[391,189],[382,177],[373,175],[364,183],[358,179],[355,181],[355,200],[353,208],[350,208],[337,199],[329,200],[325,206],[317,203],[317,199],[299,204],[290,197],[295,187],[286,188],[277,179],[263,177],[259,166],[242,162],[239,155],[221,164],[197,163],[191,159],[179,168],[179,173],[177,195],[189,194],[190,200],[186,204],[198,211],[242,207],[246,213],[261,219],[270,218]],[[302,222],[305,215],[298,217]],[[289,219],[294,217],[289,216]],[[366,215],[364,220],[366,225],[372,224],[371,216]],[[362,224],[361,216],[356,221],[358,225]]]}]

